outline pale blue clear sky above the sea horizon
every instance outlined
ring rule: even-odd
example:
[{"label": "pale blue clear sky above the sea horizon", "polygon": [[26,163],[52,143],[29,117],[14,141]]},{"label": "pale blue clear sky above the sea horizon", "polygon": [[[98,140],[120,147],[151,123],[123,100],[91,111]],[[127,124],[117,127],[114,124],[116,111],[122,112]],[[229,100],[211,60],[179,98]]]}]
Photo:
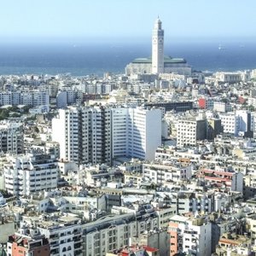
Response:
[{"label": "pale blue clear sky above the sea horizon", "polygon": [[256,38],[255,0],[0,0],[0,41]]}]

